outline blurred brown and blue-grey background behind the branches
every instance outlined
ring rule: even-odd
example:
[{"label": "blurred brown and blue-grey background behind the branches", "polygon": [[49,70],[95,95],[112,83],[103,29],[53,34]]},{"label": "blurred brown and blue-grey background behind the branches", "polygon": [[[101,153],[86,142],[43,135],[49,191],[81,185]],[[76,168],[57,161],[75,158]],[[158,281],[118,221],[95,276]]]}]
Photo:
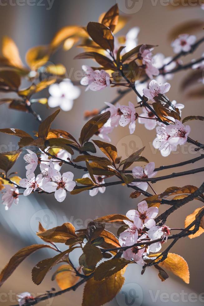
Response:
[{"label": "blurred brown and blue-grey background behind the branches", "polygon": [[[52,2],[43,0],[32,1],[1,1],[0,3],[0,38],[4,35],[11,37],[19,47],[21,57],[24,59],[26,51],[36,45],[47,44],[61,27],[66,25],[85,26],[89,21],[98,21],[102,12],[106,12],[116,2],[114,0],[53,0]],[[120,3],[121,2],[121,3]],[[138,43],[148,43],[158,45],[154,54],[162,52],[165,56],[173,54],[171,41],[168,39],[168,33],[181,22],[189,19],[203,19],[204,11],[200,7],[181,7],[179,9],[170,9],[165,5],[165,1],[136,1],[140,3],[141,8],[138,11],[124,9],[125,0],[119,1],[120,14],[129,18],[127,25],[117,35],[125,35],[131,27],[139,27]],[[129,5],[134,4],[135,1]],[[34,4],[33,4],[34,3]],[[138,5],[137,3],[137,5]],[[197,35],[197,34],[196,34]],[[202,37],[199,32],[197,38]],[[62,63],[66,66],[68,77],[75,81],[75,71],[81,71],[81,65],[93,65],[90,60],[73,60],[76,54],[83,52],[82,49],[72,48],[68,52],[59,51],[52,58],[53,63]],[[193,55],[183,58],[184,62],[190,62],[193,58],[201,57],[203,46],[201,45]],[[24,61],[25,63],[25,61]],[[186,93],[180,90],[179,84],[186,74],[185,71],[175,74],[170,81],[171,89],[168,93],[170,100],[177,100],[183,103],[185,108],[182,112],[182,118],[188,115],[200,115],[203,111],[203,99],[188,98]],[[104,101],[110,102],[116,95],[116,89],[105,89],[100,92],[86,91],[85,87],[80,86],[81,95],[75,100],[71,111],[63,112],[54,121],[52,128],[58,128],[70,132],[78,138],[81,127],[85,124],[84,111],[94,108],[104,107]],[[48,91],[43,92],[48,97]],[[5,96],[5,95],[4,95]],[[11,95],[9,95],[11,96]],[[42,95],[41,95],[42,96]],[[1,96],[2,97],[2,96]],[[120,104],[128,104],[128,101],[136,103],[134,93],[125,96]],[[42,119],[45,119],[53,112],[53,109],[47,109],[43,105],[35,105],[34,109],[39,113]],[[0,128],[19,128],[27,131],[32,135],[33,131],[38,129],[38,123],[30,114],[20,111],[7,109],[4,104],[0,107]],[[203,141],[203,128],[200,121],[191,121],[192,129],[191,138]],[[128,127],[118,127],[110,135],[112,143],[118,149],[118,155],[123,159],[132,154],[136,149],[145,146],[143,155],[149,160],[154,161],[155,166],[169,165],[180,161],[188,160],[200,155],[199,152],[193,151],[193,146],[186,144],[179,147],[177,152],[173,152],[168,157],[162,157],[160,152],[152,146],[155,138],[155,130],[148,131],[143,125],[136,125],[133,135],[129,135]],[[98,139],[95,137],[95,139]],[[17,138],[0,134],[1,152],[15,150],[17,147]],[[10,147],[13,146],[11,149]],[[8,149],[9,148],[9,149]],[[100,153],[99,153],[100,154]],[[143,165],[143,164],[138,164]],[[163,170],[159,175],[166,175],[172,171],[179,172],[198,168],[202,165],[197,162],[195,165],[187,165],[175,170]],[[25,163],[22,156],[19,158],[13,171],[18,171],[19,176],[25,177]],[[66,166],[62,170],[67,171]],[[73,169],[71,169],[72,171]],[[74,169],[75,178],[80,178],[84,173]],[[169,186],[195,185],[199,187],[203,182],[203,175],[178,177],[171,180],[163,180],[153,185],[154,189],[160,193]],[[104,194],[98,194],[90,197],[88,191],[79,195],[67,195],[66,200],[59,203],[55,200],[54,195],[33,194],[29,197],[20,197],[19,205],[13,205],[9,211],[4,210],[0,205],[0,268],[2,269],[11,256],[19,249],[30,244],[41,243],[35,232],[38,227],[38,221],[48,229],[64,222],[71,222],[77,229],[84,228],[90,220],[97,217],[121,213],[126,214],[127,210],[134,209],[137,203],[143,199],[129,198],[132,190],[125,186],[113,186],[106,188]],[[164,205],[163,205],[164,206]],[[192,213],[200,203],[196,200],[189,202],[187,205],[177,210],[168,218],[167,225],[170,227],[183,227],[186,215]],[[160,212],[167,209],[161,207]],[[107,228],[111,230],[111,228]],[[113,229],[116,233],[116,228]],[[167,244],[165,245],[167,246]],[[60,245],[63,250],[64,245]],[[122,291],[107,305],[202,305],[204,303],[204,288],[202,275],[204,267],[202,264],[203,257],[203,236],[189,240],[181,239],[172,248],[172,252],[183,256],[190,270],[190,284],[186,285],[181,279],[169,273],[169,279],[161,282],[158,278],[156,269],[149,268],[141,276],[141,267],[131,265],[125,272],[125,285]],[[51,275],[55,268],[47,274],[41,285],[36,286],[31,279],[32,267],[40,260],[54,256],[52,250],[40,250],[26,259],[12,274],[12,276],[1,287],[0,304],[4,306],[14,305],[16,303],[16,294],[24,291],[31,292],[34,295],[44,293],[55,287],[59,290],[55,281],[51,281]],[[80,253],[73,252],[70,258],[74,264],[78,265]],[[133,298],[131,290],[137,294]],[[203,293],[203,295],[200,295]],[[97,294],[97,293],[95,293]],[[69,292],[51,301],[41,302],[40,305],[53,306],[74,306],[80,305],[83,295],[83,286],[76,292]],[[198,298],[199,297],[199,298]]]}]

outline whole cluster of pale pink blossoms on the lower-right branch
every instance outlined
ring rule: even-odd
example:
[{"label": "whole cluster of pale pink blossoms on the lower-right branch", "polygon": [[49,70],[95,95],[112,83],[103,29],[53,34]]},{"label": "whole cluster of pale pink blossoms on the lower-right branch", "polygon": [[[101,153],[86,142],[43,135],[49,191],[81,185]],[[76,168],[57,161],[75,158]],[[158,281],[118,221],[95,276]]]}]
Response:
[{"label": "whole cluster of pale pink blossoms on the lower-right branch", "polygon": [[[128,247],[123,252],[123,257],[127,260],[134,260],[139,265],[144,265],[143,257],[149,252],[158,252],[161,244],[170,234],[170,228],[166,225],[156,225],[154,218],[158,215],[157,207],[149,207],[143,200],[138,204],[137,210],[129,210],[126,217],[129,220],[123,220],[128,226],[124,232],[119,235],[119,243],[122,247]],[[154,242],[154,240],[161,239]],[[149,244],[149,242],[151,242]],[[145,244],[148,242],[148,245]],[[134,246],[141,243],[142,246]]]}]

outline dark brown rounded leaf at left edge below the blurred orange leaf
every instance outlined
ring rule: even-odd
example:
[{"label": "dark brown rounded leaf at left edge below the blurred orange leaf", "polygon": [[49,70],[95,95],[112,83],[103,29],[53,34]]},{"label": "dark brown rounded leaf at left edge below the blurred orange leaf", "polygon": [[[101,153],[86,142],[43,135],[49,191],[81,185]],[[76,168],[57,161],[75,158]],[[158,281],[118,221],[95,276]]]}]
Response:
[{"label": "dark brown rounded leaf at left edge below the blurred orange leaf", "polygon": [[1,70],[0,71],[0,90],[2,91],[17,91],[21,85],[21,78],[15,71]]}]

